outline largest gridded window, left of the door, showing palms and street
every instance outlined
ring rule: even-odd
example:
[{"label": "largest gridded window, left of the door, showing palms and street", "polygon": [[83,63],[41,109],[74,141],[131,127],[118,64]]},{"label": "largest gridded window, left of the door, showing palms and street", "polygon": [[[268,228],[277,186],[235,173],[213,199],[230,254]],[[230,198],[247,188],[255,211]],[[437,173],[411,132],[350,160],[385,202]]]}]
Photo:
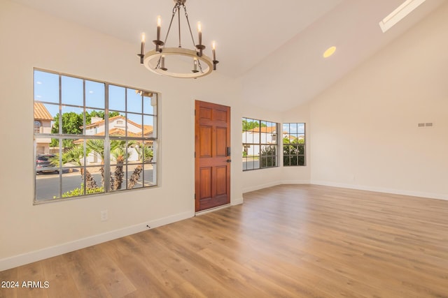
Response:
[{"label": "largest gridded window, left of the door, showing palms and street", "polygon": [[34,70],[34,202],[156,186],[157,102],[155,92]]}]

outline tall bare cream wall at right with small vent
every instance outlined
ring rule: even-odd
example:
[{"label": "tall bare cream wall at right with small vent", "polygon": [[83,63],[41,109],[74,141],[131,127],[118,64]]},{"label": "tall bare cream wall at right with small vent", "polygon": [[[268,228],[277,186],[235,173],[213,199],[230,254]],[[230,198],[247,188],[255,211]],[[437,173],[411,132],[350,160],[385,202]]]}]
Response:
[{"label": "tall bare cream wall at right with small vent", "polygon": [[447,15],[445,4],[311,101],[312,183],[448,199]]}]

